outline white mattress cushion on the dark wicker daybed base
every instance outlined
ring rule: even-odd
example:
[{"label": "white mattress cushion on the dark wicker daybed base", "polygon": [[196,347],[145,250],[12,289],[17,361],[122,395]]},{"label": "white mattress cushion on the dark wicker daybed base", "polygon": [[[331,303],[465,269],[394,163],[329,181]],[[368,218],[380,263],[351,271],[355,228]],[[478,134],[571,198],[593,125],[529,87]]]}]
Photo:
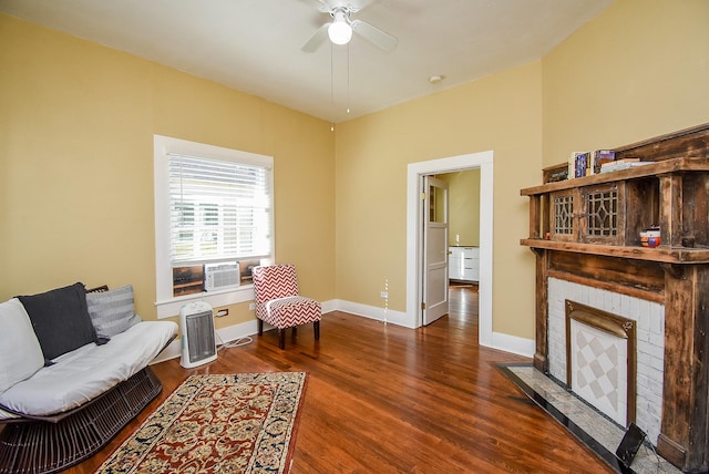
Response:
[{"label": "white mattress cushion on the dark wicker daybed base", "polygon": [[[143,321],[111,338],[54,359],[53,365],[0,394],[0,403],[25,414],[51,415],[94,399],[145,368],[177,333],[172,321]],[[0,420],[17,418],[0,410]]]}]

